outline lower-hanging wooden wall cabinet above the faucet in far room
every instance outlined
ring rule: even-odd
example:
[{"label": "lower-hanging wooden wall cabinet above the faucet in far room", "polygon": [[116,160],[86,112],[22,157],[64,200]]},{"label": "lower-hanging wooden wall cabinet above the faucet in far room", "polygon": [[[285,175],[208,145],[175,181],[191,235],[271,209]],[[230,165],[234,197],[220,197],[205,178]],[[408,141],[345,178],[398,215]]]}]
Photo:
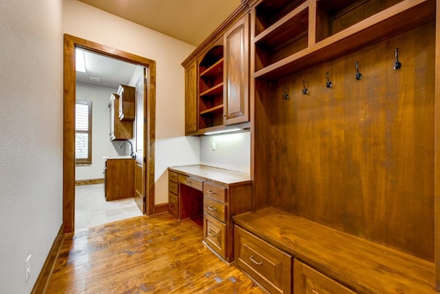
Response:
[{"label": "lower-hanging wooden wall cabinet above the faucet in far room", "polygon": [[133,121],[120,120],[119,118],[120,97],[113,93],[109,100],[110,109],[110,139],[120,141],[133,139]]}]

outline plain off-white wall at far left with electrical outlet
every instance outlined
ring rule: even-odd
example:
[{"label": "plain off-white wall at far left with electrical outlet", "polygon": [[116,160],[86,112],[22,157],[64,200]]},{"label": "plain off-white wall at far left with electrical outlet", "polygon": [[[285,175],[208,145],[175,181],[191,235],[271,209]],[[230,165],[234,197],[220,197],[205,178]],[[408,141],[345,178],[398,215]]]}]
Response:
[{"label": "plain off-white wall at far left with electrical outlet", "polygon": [[63,222],[61,16],[61,0],[1,1],[0,293],[30,293]]}]

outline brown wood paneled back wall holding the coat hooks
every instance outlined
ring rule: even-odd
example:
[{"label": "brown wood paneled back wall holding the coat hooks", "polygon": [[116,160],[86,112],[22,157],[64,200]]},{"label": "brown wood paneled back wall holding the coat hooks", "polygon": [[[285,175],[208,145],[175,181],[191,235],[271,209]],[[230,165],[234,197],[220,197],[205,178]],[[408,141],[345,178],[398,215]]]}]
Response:
[{"label": "brown wood paneled back wall holding the coat hooks", "polygon": [[256,80],[256,209],[434,261],[434,39],[430,23],[271,84]]}]

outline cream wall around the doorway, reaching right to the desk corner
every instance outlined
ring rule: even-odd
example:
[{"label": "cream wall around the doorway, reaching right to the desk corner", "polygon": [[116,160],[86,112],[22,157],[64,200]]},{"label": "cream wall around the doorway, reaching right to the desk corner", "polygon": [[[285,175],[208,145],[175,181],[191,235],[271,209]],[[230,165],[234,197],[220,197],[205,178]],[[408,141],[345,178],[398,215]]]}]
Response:
[{"label": "cream wall around the doorway, reaching right to the desk corner", "polygon": [[168,166],[199,163],[184,137],[184,68],[194,46],[76,0],[63,1],[63,32],[156,61],[155,204],[168,202]]}]

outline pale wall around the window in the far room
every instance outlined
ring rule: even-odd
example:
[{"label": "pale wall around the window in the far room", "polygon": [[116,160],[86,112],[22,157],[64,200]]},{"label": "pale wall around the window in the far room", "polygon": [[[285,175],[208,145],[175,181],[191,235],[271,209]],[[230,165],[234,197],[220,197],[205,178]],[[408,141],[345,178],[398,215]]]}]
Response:
[{"label": "pale wall around the window in the far room", "polygon": [[[120,141],[110,141],[111,93],[118,89],[98,87],[90,84],[76,84],[76,99],[91,101],[91,165],[76,166],[76,180],[102,179],[104,156],[130,155],[129,145],[119,148]],[[133,142],[133,140],[131,140]]]}]

